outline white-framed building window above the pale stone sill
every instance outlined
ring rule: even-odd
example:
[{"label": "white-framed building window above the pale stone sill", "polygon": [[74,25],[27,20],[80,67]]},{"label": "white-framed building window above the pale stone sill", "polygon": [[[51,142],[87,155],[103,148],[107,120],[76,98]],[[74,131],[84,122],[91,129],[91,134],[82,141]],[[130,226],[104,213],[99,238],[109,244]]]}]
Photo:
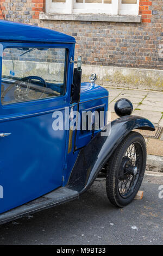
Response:
[{"label": "white-framed building window above the pale stone sill", "polygon": [[139,0],[46,0],[46,13],[138,15]]}]

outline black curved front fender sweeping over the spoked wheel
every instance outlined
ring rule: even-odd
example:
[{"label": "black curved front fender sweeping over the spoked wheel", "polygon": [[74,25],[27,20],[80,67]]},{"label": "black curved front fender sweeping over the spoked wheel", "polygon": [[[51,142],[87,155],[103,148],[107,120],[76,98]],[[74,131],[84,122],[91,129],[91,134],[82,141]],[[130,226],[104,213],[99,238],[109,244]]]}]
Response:
[{"label": "black curved front fender sweeping over the spoked wheel", "polygon": [[108,130],[111,127],[109,135],[102,136],[103,131],[100,131],[84,148],[80,149],[66,185],[68,188],[79,193],[86,191],[130,131],[155,130],[151,121],[134,115],[118,118],[106,127]]}]

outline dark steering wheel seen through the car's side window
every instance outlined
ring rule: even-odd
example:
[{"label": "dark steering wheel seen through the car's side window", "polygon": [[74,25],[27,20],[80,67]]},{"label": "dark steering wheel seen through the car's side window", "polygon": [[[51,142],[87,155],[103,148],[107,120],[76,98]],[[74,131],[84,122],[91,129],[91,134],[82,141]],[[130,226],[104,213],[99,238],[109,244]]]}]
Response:
[{"label": "dark steering wheel seen through the car's side window", "polygon": [[[45,80],[43,80],[42,77],[39,77],[39,76],[27,76],[27,77],[23,77],[21,78],[20,80],[16,81],[15,83],[12,83],[6,90],[4,90],[4,92],[2,93],[1,95],[1,99],[2,99],[2,103],[3,103],[3,100],[4,100],[4,97],[5,95],[9,92],[9,90],[12,89],[12,87],[17,87],[17,89],[15,90],[15,92],[18,95],[18,98],[19,99],[24,99],[24,97],[28,97],[28,93],[29,93],[29,90],[30,90],[30,83],[32,82],[32,80],[38,80],[40,81],[42,84],[43,84],[43,88],[46,89],[47,87],[47,84],[45,82]],[[28,81],[27,85],[24,83]],[[26,90],[22,90],[20,87],[26,87]],[[45,89],[43,90],[43,92],[41,93],[40,97],[37,97],[37,99],[41,99],[42,95],[45,93]],[[19,90],[19,91],[18,91]],[[16,95],[14,92],[14,96]],[[26,93],[26,95],[25,95]],[[16,97],[15,97],[16,99]]]}]

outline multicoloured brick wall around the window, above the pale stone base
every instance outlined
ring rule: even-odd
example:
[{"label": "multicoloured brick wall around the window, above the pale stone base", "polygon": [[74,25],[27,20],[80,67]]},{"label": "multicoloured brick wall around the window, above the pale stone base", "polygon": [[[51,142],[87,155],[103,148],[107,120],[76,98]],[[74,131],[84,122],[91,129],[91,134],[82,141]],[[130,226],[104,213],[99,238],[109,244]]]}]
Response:
[{"label": "multicoloured brick wall around the window, above the pale stone base", "polygon": [[7,20],[74,36],[76,56],[82,54],[84,64],[163,70],[163,57],[159,56],[163,44],[162,0],[140,1],[141,23],[40,20],[45,0],[0,2]]}]

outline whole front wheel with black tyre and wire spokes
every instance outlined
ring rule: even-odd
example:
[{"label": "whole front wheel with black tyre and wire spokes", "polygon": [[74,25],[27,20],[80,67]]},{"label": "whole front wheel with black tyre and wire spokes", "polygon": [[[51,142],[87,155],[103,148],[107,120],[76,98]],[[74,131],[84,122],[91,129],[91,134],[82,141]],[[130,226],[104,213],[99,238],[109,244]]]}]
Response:
[{"label": "whole front wheel with black tyre and wire spokes", "polygon": [[106,172],[106,193],[110,202],[123,207],[135,198],[146,168],[146,142],[130,132],[110,157]]}]

